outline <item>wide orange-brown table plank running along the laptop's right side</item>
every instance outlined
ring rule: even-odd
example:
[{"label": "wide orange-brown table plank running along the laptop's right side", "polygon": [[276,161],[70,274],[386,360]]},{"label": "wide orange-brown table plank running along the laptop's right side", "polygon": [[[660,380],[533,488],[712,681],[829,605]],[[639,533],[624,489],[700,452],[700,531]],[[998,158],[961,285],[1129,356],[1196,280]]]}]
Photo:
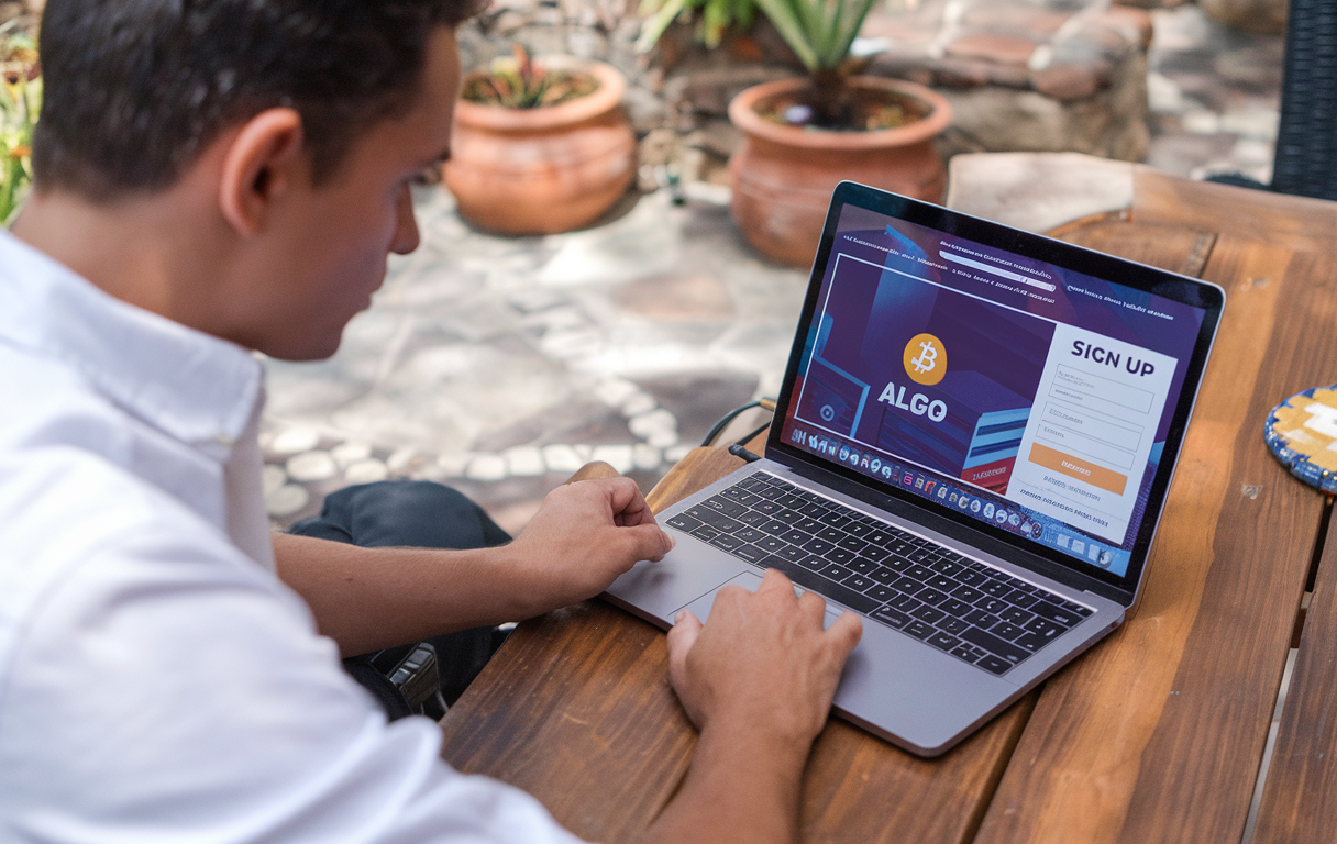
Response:
[{"label": "wide orange-brown table plank running along the laptop's right side", "polygon": [[1048,682],[979,841],[1239,839],[1318,528],[1262,443],[1337,359],[1313,260],[1217,240],[1205,275],[1230,299],[1140,609]]}]

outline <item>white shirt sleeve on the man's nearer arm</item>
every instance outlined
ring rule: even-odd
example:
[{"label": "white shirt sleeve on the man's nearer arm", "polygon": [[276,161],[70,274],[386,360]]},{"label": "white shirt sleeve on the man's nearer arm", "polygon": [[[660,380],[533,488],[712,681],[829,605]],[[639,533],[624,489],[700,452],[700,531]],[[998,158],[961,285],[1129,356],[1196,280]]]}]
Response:
[{"label": "white shirt sleeve on the man's nearer arm", "polygon": [[0,618],[0,839],[578,840],[444,764],[431,720],[386,724],[301,598],[179,515],[92,537]]}]

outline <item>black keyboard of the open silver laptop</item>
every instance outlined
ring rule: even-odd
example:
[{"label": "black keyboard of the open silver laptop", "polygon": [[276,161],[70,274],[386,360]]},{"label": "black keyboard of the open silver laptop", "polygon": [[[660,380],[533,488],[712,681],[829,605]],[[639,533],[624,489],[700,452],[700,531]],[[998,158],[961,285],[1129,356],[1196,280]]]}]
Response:
[{"label": "black keyboard of the open silver laptop", "polygon": [[993,674],[1092,612],[765,473],[668,525]]}]

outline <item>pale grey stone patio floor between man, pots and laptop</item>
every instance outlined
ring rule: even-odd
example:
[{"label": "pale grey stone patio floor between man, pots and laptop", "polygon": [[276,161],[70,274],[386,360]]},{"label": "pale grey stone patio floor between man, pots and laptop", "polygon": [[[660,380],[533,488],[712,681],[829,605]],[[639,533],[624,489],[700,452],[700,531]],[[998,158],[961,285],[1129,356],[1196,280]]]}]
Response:
[{"label": "pale grey stone patio floor between man, pots and laptop", "polygon": [[[1270,175],[1282,40],[1197,7],[1155,13],[1150,164]],[[267,361],[265,483],[277,528],[348,483],[456,486],[519,532],[590,459],[650,487],[730,409],[779,389],[808,272],[763,263],[727,192],[628,195],[547,238],[472,230],[416,192],[422,246],[393,258],[329,361]],[[765,422],[753,411],[734,438]]]}]

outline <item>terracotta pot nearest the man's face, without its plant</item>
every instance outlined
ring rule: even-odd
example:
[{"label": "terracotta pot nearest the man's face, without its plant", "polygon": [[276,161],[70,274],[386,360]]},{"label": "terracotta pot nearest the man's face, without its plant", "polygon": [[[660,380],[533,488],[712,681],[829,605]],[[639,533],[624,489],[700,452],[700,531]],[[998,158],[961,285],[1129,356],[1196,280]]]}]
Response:
[{"label": "terracotta pot nearest the man's face, without its plant", "polygon": [[631,184],[636,139],[619,106],[622,73],[560,59],[541,63],[592,73],[599,88],[543,108],[456,104],[445,184],[471,223],[508,235],[571,231],[594,222]]}]

